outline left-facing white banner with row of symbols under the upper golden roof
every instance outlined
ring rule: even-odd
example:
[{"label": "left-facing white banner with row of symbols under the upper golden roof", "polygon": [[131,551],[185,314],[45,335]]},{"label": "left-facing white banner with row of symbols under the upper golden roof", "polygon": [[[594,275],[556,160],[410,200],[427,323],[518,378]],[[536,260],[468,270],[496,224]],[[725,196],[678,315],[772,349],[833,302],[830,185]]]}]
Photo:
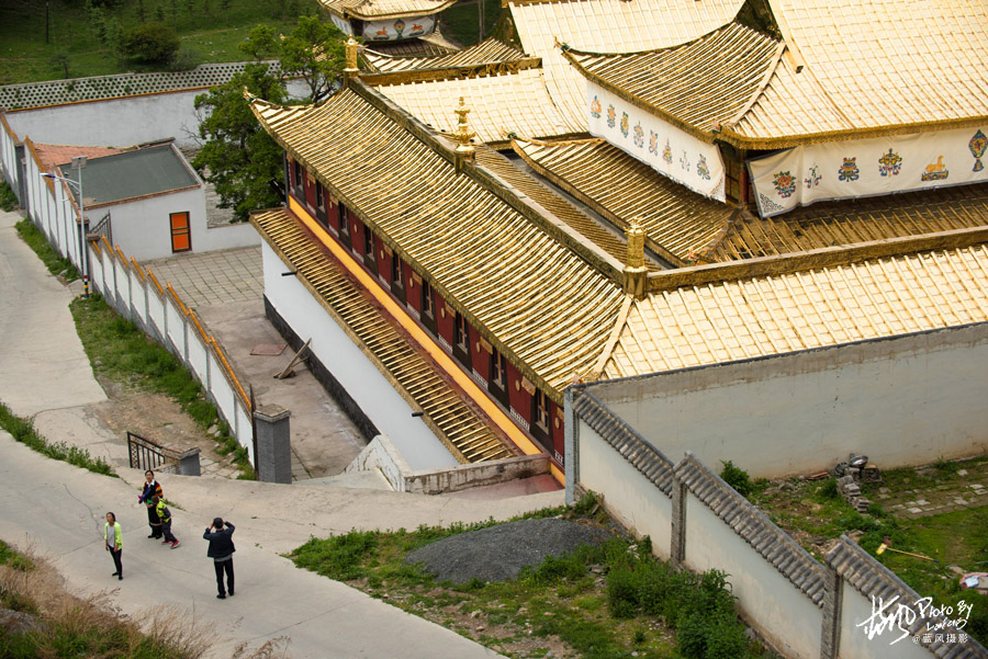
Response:
[{"label": "left-facing white banner with row of symbols under the upper golden roof", "polygon": [[707,144],[632,105],[593,82],[586,83],[587,125],[629,156],[699,194],[725,200],[723,160]]}]

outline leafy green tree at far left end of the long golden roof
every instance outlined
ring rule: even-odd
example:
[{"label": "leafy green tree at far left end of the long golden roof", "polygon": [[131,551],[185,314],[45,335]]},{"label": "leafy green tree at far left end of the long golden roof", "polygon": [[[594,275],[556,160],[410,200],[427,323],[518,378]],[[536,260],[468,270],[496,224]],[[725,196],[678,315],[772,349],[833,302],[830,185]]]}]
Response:
[{"label": "leafy green tree at far left end of the long golden roof", "polygon": [[284,83],[268,72],[267,64],[248,64],[229,82],[195,96],[202,150],[192,166],[216,188],[220,207],[233,208],[237,220],[251,211],[284,202],[281,147],[260,126],[244,89],[271,101],[287,99]]}]

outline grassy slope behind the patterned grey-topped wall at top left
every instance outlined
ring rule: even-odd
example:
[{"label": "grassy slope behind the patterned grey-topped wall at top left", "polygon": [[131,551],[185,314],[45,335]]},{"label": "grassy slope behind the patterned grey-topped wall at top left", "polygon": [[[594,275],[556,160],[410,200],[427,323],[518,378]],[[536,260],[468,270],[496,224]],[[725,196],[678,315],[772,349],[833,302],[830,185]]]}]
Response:
[{"label": "grassy slope behind the patterned grey-topped wall at top left", "polygon": [[[182,43],[182,59],[191,65],[242,61],[237,44],[255,25],[267,23],[289,31],[296,16],[319,11],[316,0],[123,0],[108,4],[112,7],[101,8],[102,19],[115,20],[124,32],[155,21],[173,27]],[[223,4],[228,7],[223,9]],[[120,59],[99,39],[99,21],[81,2],[53,0],[47,7],[47,35],[46,3],[21,1],[0,7],[0,84],[161,69]]]}]

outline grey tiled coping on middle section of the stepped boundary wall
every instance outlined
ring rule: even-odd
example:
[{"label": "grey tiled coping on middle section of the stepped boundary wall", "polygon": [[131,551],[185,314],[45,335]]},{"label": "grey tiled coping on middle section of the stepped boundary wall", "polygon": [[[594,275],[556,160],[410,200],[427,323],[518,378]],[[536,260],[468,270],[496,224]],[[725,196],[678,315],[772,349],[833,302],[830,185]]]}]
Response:
[{"label": "grey tiled coping on middle section of the stepped boundary wall", "polygon": [[[801,591],[818,607],[823,606],[826,568],[793,536],[779,529],[755,504],[738,493],[692,452],[673,467],[682,482],[731,531]],[[687,510],[687,515],[689,514]]]}]

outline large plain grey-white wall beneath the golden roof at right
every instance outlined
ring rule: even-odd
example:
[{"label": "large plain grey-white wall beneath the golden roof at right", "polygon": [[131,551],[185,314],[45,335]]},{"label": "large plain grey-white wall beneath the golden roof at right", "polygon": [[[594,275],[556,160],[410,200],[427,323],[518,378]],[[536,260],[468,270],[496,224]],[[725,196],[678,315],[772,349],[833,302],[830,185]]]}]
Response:
[{"label": "large plain grey-white wall beneath the golden roof at right", "polygon": [[988,450],[988,325],[613,380],[595,395],[666,455],[752,476]]}]

